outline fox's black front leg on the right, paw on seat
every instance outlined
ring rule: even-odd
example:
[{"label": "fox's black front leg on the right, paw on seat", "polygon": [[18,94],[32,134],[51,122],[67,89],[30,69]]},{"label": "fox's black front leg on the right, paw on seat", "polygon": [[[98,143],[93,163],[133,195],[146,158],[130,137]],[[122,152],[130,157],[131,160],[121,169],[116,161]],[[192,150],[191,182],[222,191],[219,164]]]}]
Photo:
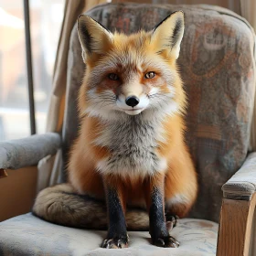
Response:
[{"label": "fox's black front leg on the right, paw on seat", "polygon": [[165,176],[152,176],[146,182],[146,204],[149,212],[149,233],[152,243],[159,247],[178,247],[179,243],[169,235],[165,223]]}]

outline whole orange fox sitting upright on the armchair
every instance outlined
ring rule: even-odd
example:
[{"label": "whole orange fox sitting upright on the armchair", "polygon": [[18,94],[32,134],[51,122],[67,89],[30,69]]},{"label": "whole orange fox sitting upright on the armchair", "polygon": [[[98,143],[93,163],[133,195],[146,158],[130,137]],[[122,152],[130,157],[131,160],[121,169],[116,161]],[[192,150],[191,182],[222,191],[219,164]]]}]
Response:
[{"label": "whole orange fox sitting upright on the armchair", "polygon": [[42,190],[35,215],[70,227],[108,229],[102,248],[127,248],[128,229],[149,230],[155,246],[179,246],[170,231],[197,198],[185,140],[187,95],[176,63],[184,29],[182,11],[130,35],[79,16],[86,69],[69,182]]}]

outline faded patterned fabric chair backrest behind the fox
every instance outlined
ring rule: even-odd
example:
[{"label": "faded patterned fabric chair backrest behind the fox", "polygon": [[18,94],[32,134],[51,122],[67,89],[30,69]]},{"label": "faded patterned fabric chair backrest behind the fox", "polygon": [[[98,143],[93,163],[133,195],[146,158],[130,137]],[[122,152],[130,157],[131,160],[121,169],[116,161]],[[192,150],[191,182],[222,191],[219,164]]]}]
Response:
[{"label": "faded patterned fabric chair backrest behind the fox", "polygon": [[[251,27],[229,10],[210,5],[107,4],[87,14],[112,31],[129,34],[152,29],[178,9],[186,17],[178,63],[189,100],[187,144],[199,182],[190,217],[218,221],[221,186],[240,168],[250,143],[255,83]],[[79,129],[76,98],[84,68],[74,27],[63,126],[66,160]]]}]

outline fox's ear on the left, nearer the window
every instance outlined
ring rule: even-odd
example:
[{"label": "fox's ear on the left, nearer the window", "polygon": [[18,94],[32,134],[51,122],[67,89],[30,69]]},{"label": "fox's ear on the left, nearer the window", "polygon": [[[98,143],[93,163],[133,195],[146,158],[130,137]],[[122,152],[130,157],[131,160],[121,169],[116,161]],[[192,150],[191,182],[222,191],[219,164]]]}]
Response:
[{"label": "fox's ear on the left, nearer the window", "polygon": [[83,61],[92,53],[101,54],[104,48],[112,42],[112,33],[90,16],[80,15],[77,29]]}]

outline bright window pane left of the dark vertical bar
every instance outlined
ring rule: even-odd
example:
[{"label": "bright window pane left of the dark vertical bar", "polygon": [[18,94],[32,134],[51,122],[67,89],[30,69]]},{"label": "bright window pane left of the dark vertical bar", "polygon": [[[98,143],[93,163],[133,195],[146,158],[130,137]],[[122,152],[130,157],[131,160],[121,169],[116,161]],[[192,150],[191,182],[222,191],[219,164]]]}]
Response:
[{"label": "bright window pane left of the dark vertical bar", "polygon": [[22,0],[0,0],[0,140],[30,134]]}]

